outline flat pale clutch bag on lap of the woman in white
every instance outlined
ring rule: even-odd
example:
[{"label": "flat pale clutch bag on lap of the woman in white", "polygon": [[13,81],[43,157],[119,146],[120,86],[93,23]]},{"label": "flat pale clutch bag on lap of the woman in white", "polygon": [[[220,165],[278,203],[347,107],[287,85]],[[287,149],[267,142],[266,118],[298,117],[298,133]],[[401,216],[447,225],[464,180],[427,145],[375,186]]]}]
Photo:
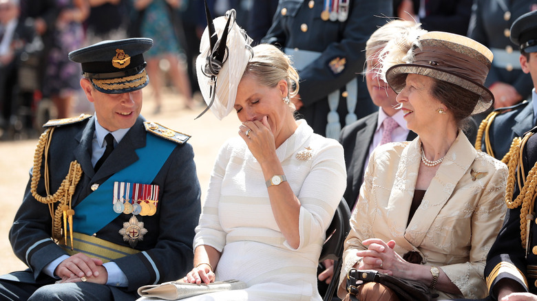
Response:
[{"label": "flat pale clutch bag on lap of the woman in white", "polygon": [[209,285],[171,281],[164,282],[160,285],[145,285],[140,287],[138,289],[138,295],[162,300],[181,300],[204,293],[231,291],[233,289],[246,289],[246,283],[234,279],[211,282]]}]

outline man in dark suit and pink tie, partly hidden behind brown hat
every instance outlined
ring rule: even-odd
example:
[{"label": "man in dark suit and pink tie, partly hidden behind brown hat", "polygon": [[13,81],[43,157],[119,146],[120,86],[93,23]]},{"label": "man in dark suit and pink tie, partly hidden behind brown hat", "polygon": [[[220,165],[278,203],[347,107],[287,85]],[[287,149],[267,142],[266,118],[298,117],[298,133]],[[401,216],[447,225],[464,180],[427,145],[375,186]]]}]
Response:
[{"label": "man in dark suit and pink tie, partly hidden behind brown hat", "polygon": [[339,143],[343,145],[347,166],[347,189],[344,198],[354,208],[369,155],[379,144],[410,141],[416,133],[406,128],[403,111],[396,109],[397,94],[381,80],[379,54],[386,44],[408,34],[408,29],[419,26],[413,21],[394,20],[375,31],[366,43],[366,85],[378,111],[361,118],[341,130]]}]

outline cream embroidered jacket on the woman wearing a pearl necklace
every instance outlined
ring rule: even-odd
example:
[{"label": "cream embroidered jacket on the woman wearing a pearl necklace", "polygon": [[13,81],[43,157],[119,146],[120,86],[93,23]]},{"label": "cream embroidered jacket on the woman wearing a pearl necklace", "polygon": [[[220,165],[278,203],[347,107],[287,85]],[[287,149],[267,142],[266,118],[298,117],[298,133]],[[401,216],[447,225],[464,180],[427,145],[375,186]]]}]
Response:
[{"label": "cream embroidered jacket on the woman wearing a pearl necklace", "polygon": [[[372,153],[345,243],[339,297],[346,273],[366,249],[366,238],[394,240],[403,256],[416,251],[459,287],[464,298],[483,298],[485,260],[505,215],[507,166],[477,151],[459,131],[407,227],[421,162],[421,140],[384,144]],[[439,298],[461,298],[441,291]]]}]

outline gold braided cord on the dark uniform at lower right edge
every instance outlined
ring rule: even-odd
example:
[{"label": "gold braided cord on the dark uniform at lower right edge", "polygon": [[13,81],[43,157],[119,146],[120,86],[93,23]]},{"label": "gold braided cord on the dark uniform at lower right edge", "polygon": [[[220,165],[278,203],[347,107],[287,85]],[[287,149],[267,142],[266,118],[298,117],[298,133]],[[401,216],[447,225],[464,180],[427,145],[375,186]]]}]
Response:
[{"label": "gold braided cord on the dark uniform at lower right edge", "polygon": [[[534,200],[537,196],[535,193],[537,187],[537,162],[529,170],[527,177],[525,177],[525,170],[522,164],[522,150],[531,135],[533,133],[527,133],[521,140],[520,137],[516,137],[511,144],[509,153],[507,153],[507,155],[510,155],[510,158],[507,164],[509,176],[507,177],[505,190],[505,203],[509,209],[515,209],[522,205],[522,208],[520,208],[520,240],[523,248],[527,247],[527,234],[529,232],[529,224],[534,220]],[[515,173],[518,179],[520,193],[513,200]],[[524,184],[522,185],[522,183]]]}]

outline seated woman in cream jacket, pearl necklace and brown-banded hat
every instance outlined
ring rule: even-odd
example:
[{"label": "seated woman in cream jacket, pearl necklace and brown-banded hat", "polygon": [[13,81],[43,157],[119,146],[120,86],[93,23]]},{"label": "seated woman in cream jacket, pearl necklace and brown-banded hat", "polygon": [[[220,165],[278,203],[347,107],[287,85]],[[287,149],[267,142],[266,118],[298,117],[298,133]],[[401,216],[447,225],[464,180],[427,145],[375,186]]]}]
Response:
[{"label": "seated woman in cream jacket, pearl necklace and brown-banded hat", "polygon": [[[412,142],[377,147],[350,221],[346,274],[377,269],[419,280],[439,298],[483,298],[487,252],[505,214],[507,167],[477,151],[461,131],[493,102],[483,87],[492,53],[470,38],[412,33],[383,50],[383,74],[398,93]],[[359,300],[397,300],[361,285]]]}]

